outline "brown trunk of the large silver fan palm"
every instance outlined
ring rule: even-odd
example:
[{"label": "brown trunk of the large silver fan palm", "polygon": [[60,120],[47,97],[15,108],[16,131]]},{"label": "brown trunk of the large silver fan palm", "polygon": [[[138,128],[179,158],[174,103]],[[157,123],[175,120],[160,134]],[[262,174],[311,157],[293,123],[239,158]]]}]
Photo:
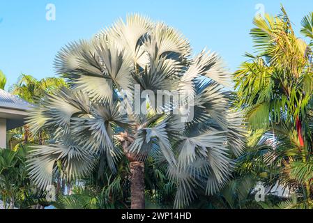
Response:
[{"label": "brown trunk of the large silver fan palm", "polygon": [[130,162],[131,208],[144,209],[144,162]]}]

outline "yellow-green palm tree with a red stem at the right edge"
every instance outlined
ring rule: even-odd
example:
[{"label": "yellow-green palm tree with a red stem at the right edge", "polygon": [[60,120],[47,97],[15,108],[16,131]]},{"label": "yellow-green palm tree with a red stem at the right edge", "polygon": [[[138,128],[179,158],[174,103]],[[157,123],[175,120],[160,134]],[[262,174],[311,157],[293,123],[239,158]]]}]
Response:
[{"label": "yellow-green palm tree with a red stem at the right edge", "polygon": [[[312,38],[312,14],[302,24],[302,33]],[[271,145],[256,153],[270,170],[270,183],[278,180],[294,192],[302,192],[309,205],[313,178],[312,47],[296,37],[283,7],[277,17],[256,17],[254,25],[251,36],[257,56],[247,54],[250,60],[235,73],[236,103],[245,110],[252,133]]]}]

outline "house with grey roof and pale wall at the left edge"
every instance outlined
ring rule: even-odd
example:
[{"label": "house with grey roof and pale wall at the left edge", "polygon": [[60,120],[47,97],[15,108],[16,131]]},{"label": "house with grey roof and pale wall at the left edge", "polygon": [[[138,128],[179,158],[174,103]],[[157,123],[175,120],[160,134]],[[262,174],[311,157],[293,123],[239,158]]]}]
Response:
[{"label": "house with grey roof and pale wall at the left edge", "polygon": [[6,148],[6,132],[24,125],[29,104],[15,95],[0,89],[0,148]]}]

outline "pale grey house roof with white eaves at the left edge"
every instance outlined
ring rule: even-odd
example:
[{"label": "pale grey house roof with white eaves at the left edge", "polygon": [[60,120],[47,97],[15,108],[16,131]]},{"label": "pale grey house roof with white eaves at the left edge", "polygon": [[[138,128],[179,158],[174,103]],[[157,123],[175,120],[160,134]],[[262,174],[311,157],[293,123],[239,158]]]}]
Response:
[{"label": "pale grey house roof with white eaves at the left edge", "polygon": [[24,125],[24,118],[33,105],[0,89],[0,118],[6,118],[7,129]]}]

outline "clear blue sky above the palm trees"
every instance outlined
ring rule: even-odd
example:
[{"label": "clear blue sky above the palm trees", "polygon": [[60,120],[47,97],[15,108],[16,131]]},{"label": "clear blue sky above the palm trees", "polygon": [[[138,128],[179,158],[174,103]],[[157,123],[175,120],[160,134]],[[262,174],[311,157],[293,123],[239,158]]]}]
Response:
[{"label": "clear blue sky above the palm trees", "polygon": [[[46,5],[56,6],[56,21],[46,20]],[[296,31],[312,0],[0,0],[0,69],[8,86],[22,73],[36,78],[54,76],[53,60],[66,43],[91,38],[128,13],[142,13],[176,27],[189,38],[194,53],[204,47],[218,52],[234,71],[243,54],[252,52],[249,31],[262,3],[277,14],[283,3]]]}]

